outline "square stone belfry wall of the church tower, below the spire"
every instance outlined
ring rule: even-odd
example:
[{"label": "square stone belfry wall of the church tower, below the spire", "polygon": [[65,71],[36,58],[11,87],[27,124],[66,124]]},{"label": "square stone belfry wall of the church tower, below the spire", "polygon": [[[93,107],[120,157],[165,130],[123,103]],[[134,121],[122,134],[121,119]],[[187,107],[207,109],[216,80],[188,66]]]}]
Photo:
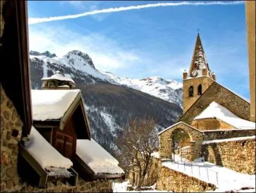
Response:
[{"label": "square stone belfry wall of the church tower, below the spire", "polygon": [[[195,101],[201,96],[198,95],[198,86],[202,85],[202,94],[206,89],[212,84],[213,80],[208,76],[200,76],[197,78],[189,78],[183,80],[183,113],[185,113],[189,107],[195,103]],[[193,86],[194,95],[193,97],[189,97],[189,87]]]}]

